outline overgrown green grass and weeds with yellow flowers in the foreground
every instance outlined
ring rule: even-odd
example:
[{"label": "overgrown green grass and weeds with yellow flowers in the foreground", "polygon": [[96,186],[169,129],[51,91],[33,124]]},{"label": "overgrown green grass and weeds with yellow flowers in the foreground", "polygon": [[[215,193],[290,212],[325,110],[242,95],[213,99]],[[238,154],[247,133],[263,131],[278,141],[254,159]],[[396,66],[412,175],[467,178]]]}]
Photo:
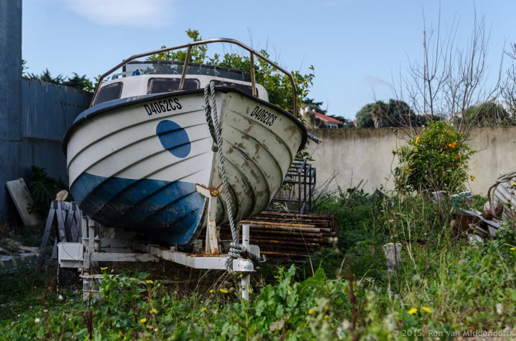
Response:
[{"label": "overgrown green grass and weeds with yellow flowers in the foreground", "polygon": [[[8,283],[0,294],[0,337],[446,339],[514,328],[513,227],[471,246],[449,227],[449,202],[351,193],[319,205],[339,221],[334,247],[311,264],[253,275],[250,302],[239,298],[237,275],[211,272],[205,277],[217,279],[185,291],[180,281],[164,285],[143,272],[121,272],[105,276],[102,299],[83,303],[80,293],[55,292],[52,269],[38,276],[27,269],[0,274]],[[388,242],[403,245],[392,275],[382,249]]]}]

